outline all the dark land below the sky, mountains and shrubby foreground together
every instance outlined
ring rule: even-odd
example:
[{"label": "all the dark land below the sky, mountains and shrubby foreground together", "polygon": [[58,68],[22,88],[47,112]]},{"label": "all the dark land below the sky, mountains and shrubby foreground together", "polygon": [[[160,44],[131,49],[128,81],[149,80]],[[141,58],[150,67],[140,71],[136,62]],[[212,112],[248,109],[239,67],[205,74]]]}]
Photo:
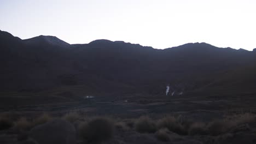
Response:
[{"label": "all the dark land below the sky, mountains and shrubby foreground together", "polygon": [[75,143],[255,143],[255,58],[206,43],[160,50],[0,31],[0,143],[45,140],[44,127]]}]

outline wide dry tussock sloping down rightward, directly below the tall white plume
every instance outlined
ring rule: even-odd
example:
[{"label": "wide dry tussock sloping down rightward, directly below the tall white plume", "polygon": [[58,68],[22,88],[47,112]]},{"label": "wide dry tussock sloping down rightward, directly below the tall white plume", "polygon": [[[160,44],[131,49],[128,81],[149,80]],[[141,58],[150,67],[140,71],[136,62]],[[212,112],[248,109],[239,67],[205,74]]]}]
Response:
[{"label": "wide dry tussock sloping down rightward, directly below the tall white plume", "polygon": [[159,129],[167,128],[168,130],[173,131],[174,133],[177,133],[179,135],[188,134],[188,132],[183,127],[181,121],[179,121],[179,118],[173,116],[167,116],[159,119],[157,122],[157,126]]}]

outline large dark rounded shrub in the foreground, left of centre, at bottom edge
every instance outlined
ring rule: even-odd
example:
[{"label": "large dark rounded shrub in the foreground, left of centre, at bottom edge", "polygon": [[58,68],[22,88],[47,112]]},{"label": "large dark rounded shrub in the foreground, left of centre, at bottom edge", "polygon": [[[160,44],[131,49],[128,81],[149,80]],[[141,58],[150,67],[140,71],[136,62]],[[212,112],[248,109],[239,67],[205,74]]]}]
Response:
[{"label": "large dark rounded shrub in the foreground, left of centre, at bottom edge", "polygon": [[109,118],[98,117],[80,125],[80,136],[88,142],[109,140],[114,133],[113,121]]}]

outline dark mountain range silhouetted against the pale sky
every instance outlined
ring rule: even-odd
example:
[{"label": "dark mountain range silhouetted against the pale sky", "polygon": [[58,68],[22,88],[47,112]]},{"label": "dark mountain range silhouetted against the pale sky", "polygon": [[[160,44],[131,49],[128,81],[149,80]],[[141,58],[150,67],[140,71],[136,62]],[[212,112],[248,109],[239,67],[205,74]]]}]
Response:
[{"label": "dark mountain range silhouetted against the pale sky", "polygon": [[[21,40],[0,31],[0,91],[49,91],[82,87],[94,93],[159,95],[167,83],[177,91],[231,88],[231,71],[255,65],[254,51],[189,43],[164,50],[124,41],[95,40],[70,45],[53,36]],[[230,77],[230,78],[228,78]],[[247,75],[251,79],[253,75]],[[230,79],[228,82],[225,79]],[[254,79],[254,78],[253,78]],[[225,82],[224,82],[225,81]],[[237,91],[237,86],[232,87]],[[248,90],[248,88],[247,88]],[[252,90],[253,91],[253,90]]]}]

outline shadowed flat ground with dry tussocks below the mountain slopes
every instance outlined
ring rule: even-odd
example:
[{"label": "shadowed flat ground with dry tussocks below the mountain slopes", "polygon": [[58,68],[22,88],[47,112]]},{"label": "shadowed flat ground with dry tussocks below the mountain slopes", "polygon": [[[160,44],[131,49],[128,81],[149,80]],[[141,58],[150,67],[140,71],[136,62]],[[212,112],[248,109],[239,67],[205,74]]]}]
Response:
[{"label": "shadowed flat ground with dry tussocks below the mountain slopes", "polygon": [[17,102],[0,107],[0,143],[256,143],[253,95]]}]

